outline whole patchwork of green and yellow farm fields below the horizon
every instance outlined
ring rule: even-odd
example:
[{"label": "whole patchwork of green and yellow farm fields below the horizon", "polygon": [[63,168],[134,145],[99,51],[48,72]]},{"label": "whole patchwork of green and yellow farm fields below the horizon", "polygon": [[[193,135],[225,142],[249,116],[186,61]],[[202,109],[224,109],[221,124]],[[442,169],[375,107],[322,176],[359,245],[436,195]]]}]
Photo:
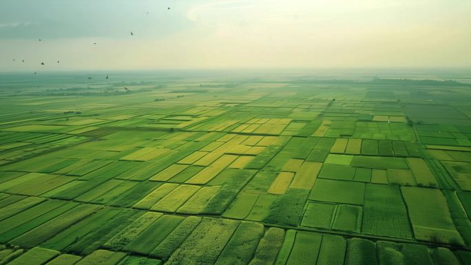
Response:
[{"label": "whole patchwork of green and yellow farm fields below the horizon", "polygon": [[0,264],[471,264],[470,86],[219,79],[1,84]]}]

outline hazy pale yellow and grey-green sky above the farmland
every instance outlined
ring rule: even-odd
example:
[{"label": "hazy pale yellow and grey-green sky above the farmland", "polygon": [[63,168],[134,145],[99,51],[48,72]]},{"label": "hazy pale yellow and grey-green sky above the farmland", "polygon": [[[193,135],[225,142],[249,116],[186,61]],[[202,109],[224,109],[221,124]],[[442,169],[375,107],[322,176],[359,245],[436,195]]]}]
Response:
[{"label": "hazy pale yellow and grey-green sky above the farmland", "polygon": [[0,0],[0,71],[469,66],[471,0]]}]

